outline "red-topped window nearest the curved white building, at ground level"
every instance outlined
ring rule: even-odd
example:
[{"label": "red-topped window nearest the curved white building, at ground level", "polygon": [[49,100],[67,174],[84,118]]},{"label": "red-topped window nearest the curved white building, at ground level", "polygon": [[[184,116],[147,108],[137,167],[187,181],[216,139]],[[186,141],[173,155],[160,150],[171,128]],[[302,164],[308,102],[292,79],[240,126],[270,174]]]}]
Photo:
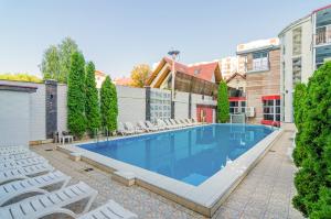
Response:
[{"label": "red-topped window nearest the curved white building, at ground level", "polygon": [[280,121],[280,98],[279,98],[279,96],[263,97],[263,105],[264,105],[264,120]]}]

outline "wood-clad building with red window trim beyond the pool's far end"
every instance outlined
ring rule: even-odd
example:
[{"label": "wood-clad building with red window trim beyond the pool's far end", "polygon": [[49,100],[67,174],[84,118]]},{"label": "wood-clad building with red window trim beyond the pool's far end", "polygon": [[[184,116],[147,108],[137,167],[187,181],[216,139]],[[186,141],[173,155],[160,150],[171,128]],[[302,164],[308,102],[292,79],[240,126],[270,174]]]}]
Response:
[{"label": "wood-clad building with red window trim beyond the pool's far end", "polygon": [[[280,124],[280,47],[278,39],[254,41],[237,46],[238,57],[245,59],[245,91],[237,99],[248,123]],[[228,85],[231,81],[227,83]],[[243,84],[243,83],[242,83]],[[243,102],[243,100],[246,100]],[[244,103],[244,106],[243,106]],[[231,101],[232,106],[236,106]],[[247,107],[246,107],[247,106]],[[249,109],[249,111],[247,111]]]}]

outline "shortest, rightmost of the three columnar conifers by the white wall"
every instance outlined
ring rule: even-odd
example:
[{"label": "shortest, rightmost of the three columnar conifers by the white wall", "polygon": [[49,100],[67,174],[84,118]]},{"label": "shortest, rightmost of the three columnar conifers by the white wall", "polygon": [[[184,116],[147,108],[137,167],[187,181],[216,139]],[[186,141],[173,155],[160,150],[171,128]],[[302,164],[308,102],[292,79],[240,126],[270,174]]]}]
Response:
[{"label": "shortest, rightmost of the three columnar conifers by the white wall", "polygon": [[107,76],[100,90],[100,109],[103,125],[110,132],[117,129],[117,92],[116,87]]}]

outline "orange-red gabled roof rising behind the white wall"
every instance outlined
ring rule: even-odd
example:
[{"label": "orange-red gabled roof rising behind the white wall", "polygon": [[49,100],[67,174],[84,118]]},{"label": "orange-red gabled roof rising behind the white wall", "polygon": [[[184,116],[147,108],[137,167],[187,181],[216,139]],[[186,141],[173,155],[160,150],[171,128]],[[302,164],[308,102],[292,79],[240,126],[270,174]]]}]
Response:
[{"label": "orange-red gabled roof rising behind the white wall", "polygon": [[[169,64],[169,70],[171,70],[172,59],[169,57],[163,57],[159,63],[158,67],[153,70],[147,84],[150,85],[153,79],[158,76],[159,72],[166,64]],[[215,81],[218,83],[222,79],[218,62],[207,62],[207,63],[196,63],[191,65],[184,65],[182,63],[174,63],[175,72],[180,72],[203,80],[212,81],[215,78]]]}]

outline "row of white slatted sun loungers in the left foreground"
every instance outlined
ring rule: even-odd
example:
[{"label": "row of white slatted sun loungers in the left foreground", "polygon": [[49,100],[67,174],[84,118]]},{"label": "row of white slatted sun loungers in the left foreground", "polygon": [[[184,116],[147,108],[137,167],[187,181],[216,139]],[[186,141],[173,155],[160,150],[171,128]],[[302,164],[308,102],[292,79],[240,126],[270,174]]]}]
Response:
[{"label": "row of white slatted sun loungers in the left foreground", "polygon": [[137,218],[114,200],[87,212],[97,190],[84,182],[67,186],[70,176],[28,147],[0,147],[0,218]]}]

